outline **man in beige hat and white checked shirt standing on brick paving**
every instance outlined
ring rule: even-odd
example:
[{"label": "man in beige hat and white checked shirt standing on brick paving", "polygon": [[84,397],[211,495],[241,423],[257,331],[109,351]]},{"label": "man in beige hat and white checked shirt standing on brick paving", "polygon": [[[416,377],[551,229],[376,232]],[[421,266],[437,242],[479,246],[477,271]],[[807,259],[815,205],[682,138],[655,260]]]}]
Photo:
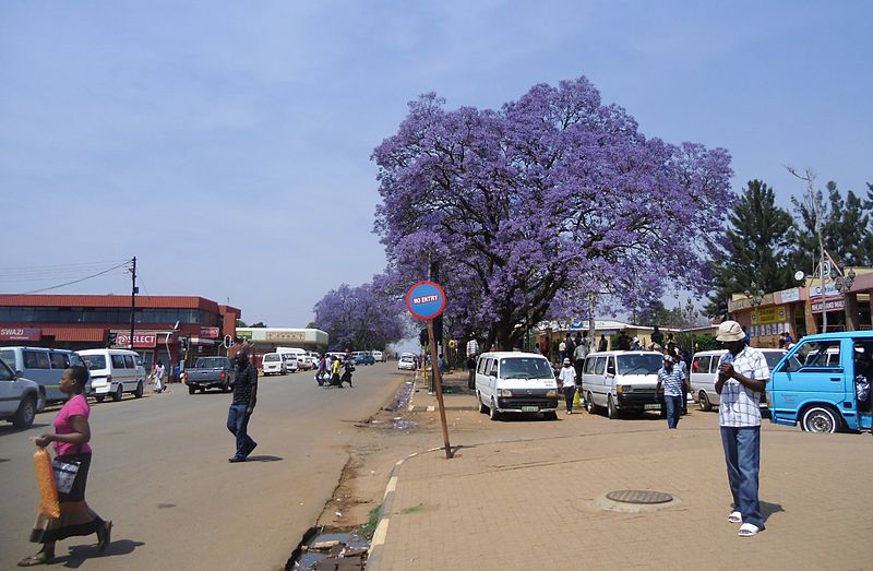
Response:
[{"label": "man in beige hat and white checked shirt standing on brick paving", "polygon": [[761,467],[761,393],[769,380],[764,355],[750,347],[736,321],[718,326],[718,341],[728,353],[721,356],[716,378],[720,395],[718,420],[728,466],[728,484],[733,497],[731,523],[741,523],[740,537],[752,537],[764,528],[758,502]]}]

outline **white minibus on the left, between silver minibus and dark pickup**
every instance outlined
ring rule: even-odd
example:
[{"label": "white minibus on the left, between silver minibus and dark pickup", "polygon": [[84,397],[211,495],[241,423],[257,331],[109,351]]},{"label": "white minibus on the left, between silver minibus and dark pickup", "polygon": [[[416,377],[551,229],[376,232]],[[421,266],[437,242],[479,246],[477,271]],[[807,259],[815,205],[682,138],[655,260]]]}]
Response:
[{"label": "white minibus on the left, between silver minibus and dark pickup", "polygon": [[123,393],[140,398],[145,390],[145,367],[140,354],[129,349],[77,352],[91,371],[91,396],[101,403],[106,395],[120,401]]}]

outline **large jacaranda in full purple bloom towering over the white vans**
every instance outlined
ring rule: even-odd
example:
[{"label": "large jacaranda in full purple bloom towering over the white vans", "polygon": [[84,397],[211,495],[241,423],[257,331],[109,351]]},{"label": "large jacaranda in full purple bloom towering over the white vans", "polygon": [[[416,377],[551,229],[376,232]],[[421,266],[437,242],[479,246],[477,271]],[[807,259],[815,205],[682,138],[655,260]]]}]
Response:
[{"label": "large jacaranda in full purple bloom towering over the white vans", "polygon": [[440,262],[456,333],[509,348],[542,319],[585,314],[591,293],[638,305],[707,289],[727,151],[647,139],[585,78],[500,110],[444,106],[411,102],[375,148],[375,231],[398,286]]}]

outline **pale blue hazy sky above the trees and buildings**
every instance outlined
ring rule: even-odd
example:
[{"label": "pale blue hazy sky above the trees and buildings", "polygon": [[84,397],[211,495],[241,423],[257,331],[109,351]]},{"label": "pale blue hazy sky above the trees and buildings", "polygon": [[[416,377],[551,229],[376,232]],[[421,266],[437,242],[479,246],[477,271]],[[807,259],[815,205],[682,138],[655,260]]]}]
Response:
[{"label": "pale blue hazy sky above the trees and buildings", "polygon": [[[647,136],[727,147],[734,190],[789,206],[791,165],[862,192],[872,21],[863,1],[7,0],[0,292],[136,255],[143,294],[306,325],[384,267],[370,155],[431,91],[495,108],[586,75]],[[128,292],[117,270],[51,293]]]}]

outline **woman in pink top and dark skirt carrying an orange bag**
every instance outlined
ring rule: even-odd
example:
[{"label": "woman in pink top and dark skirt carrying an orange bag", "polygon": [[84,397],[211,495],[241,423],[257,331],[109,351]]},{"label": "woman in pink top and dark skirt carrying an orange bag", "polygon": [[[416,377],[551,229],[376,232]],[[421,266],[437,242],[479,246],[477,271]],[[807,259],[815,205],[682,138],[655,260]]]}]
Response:
[{"label": "woman in pink top and dark skirt carrying an orange bag", "polygon": [[55,443],[56,457],[64,462],[79,462],[79,472],[75,475],[70,491],[58,491],[61,516],[57,520],[39,515],[31,532],[31,542],[43,544],[36,555],[25,557],[19,561],[19,567],[33,567],[50,563],[55,559],[55,543],[74,535],[97,534],[100,551],[109,545],[112,522],[105,522],[94,513],[85,502],[85,486],[91,466],[91,427],[88,413],[91,407],[82,394],[87,382],[88,372],[84,367],[70,367],[63,371],[60,390],[70,395],[55,417],[55,433],[43,435],[34,442],[37,447],[46,448],[49,442]]}]

